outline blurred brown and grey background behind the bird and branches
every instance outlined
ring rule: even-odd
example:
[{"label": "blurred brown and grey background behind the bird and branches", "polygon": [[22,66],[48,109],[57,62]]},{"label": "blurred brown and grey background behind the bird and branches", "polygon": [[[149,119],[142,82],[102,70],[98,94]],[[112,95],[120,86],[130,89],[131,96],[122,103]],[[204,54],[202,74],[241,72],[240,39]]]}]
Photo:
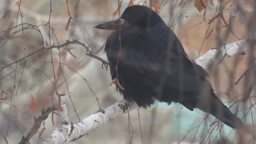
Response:
[{"label": "blurred brown and grey background behind the bird and branches", "polygon": [[[122,99],[115,86],[109,86],[109,69],[87,56],[85,47],[70,44],[60,49],[42,49],[41,36],[46,46],[77,39],[87,44],[95,56],[107,60],[104,44],[111,31],[93,27],[118,18],[118,0],[11,1],[10,9],[6,7],[0,18],[0,144],[6,140],[17,144],[43,107],[58,101],[56,89],[59,94],[66,94],[61,98],[73,123],[99,109],[96,97],[101,108]],[[210,49],[255,34],[254,0],[120,0],[120,13],[132,4],[155,10],[194,60]],[[251,131],[256,118],[254,44],[247,45],[250,51],[245,55],[228,57],[207,70],[219,98]],[[25,55],[26,60],[22,59]],[[220,129],[222,125],[213,123],[214,117],[180,104],[156,102],[139,112],[144,144],[236,144],[241,139],[244,144],[254,144],[254,132],[238,134],[226,125]],[[59,118],[53,115],[55,125],[50,114],[31,144],[39,143],[56,128]],[[130,128],[128,114],[121,115],[70,144],[142,144],[137,109],[129,115]]]}]

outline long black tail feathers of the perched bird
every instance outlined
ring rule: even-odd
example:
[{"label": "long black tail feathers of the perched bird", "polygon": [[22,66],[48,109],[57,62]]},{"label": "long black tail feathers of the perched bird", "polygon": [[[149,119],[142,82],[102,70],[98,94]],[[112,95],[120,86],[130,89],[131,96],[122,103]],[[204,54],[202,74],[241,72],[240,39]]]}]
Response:
[{"label": "long black tail feathers of the perched bird", "polygon": [[198,108],[202,111],[205,111],[207,113],[210,113],[215,118],[222,121],[224,124],[230,126],[231,128],[236,129],[244,129],[245,126],[243,125],[243,122],[238,118],[236,115],[234,115],[229,108],[226,107],[220,101],[220,99],[217,97],[217,95],[214,94],[214,92],[211,92],[213,96],[208,97],[209,102],[205,103],[205,105],[200,105]]}]

